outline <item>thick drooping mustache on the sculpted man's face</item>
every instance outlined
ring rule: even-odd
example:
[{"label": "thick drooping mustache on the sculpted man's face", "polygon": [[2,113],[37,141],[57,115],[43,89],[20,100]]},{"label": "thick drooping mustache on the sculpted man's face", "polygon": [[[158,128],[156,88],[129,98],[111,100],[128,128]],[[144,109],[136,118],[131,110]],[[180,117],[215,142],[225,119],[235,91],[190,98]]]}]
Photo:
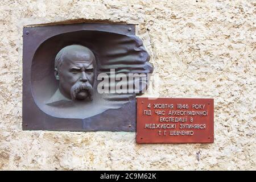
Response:
[{"label": "thick drooping mustache on the sculpted man's face", "polygon": [[92,100],[92,85],[87,82],[76,82],[75,85],[71,88],[71,98],[72,100],[76,100],[77,93],[79,93],[81,90],[87,90],[89,93],[90,100]]}]

